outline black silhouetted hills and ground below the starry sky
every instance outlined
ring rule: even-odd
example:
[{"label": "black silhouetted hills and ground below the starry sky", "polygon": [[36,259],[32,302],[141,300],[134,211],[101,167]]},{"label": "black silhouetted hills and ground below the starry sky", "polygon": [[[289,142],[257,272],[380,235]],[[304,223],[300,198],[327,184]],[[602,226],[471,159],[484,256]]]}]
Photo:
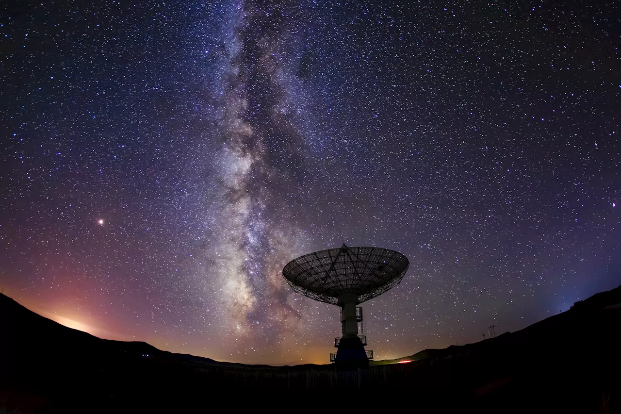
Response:
[{"label": "black silhouetted hills and ground below the starry sky", "polygon": [[521,331],[428,349],[407,364],[343,372],[329,365],[229,364],[99,339],[0,295],[0,413],[237,412],[249,406],[261,412],[381,406],[614,413],[621,412],[620,331],[621,287]]}]

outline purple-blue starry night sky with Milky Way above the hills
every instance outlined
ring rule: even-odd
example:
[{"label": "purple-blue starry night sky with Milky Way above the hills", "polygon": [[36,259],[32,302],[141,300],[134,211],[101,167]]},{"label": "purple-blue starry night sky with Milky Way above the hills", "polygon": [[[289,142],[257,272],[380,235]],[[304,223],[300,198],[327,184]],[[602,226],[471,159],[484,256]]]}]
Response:
[{"label": "purple-blue starry night sky with Milky Way above the hills", "polygon": [[376,359],[621,283],[621,13],[562,1],[4,1],[0,285],[102,338],[327,363],[281,270],[407,255]]}]

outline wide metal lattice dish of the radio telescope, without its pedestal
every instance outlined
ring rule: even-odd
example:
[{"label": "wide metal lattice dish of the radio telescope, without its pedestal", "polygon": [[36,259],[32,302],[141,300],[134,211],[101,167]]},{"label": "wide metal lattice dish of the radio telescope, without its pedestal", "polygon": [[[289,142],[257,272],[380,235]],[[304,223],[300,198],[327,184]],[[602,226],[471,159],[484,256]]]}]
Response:
[{"label": "wide metal lattice dish of the radio telescope, without its pedestal", "polygon": [[343,293],[362,303],[401,282],[410,265],[399,252],[378,247],[327,249],[291,260],[283,276],[294,292],[338,305]]}]

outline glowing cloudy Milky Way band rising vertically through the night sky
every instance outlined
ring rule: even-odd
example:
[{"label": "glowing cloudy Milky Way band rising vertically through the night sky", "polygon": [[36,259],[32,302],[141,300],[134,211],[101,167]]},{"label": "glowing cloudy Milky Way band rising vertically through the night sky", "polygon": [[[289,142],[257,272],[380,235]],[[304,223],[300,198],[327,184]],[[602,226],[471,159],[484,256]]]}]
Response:
[{"label": "glowing cloudy Milky Way band rising vertically through the night sky", "polygon": [[225,45],[225,139],[216,157],[216,182],[222,191],[215,193],[215,208],[209,212],[219,227],[210,249],[217,259],[207,269],[207,274],[218,275],[220,311],[235,338],[263,336],[266,329],[279,334],[295,318],[286,295],[278,295],[284,288],[279,269],[305,239],[292,221],[299,209],[292,204],[301,206],[304,200],[286,197],[296,192],[296,177],[278,168],[275,159],[304,168],[300,152],[305,144],[279,80],[279,60],[287,52],[284,39],[294,36],[288,36],[290,27],[267,18],[278,13],[284,20],[294,10],[276,2],[267,9],[249,2],[238,11],[233,38]]}]

